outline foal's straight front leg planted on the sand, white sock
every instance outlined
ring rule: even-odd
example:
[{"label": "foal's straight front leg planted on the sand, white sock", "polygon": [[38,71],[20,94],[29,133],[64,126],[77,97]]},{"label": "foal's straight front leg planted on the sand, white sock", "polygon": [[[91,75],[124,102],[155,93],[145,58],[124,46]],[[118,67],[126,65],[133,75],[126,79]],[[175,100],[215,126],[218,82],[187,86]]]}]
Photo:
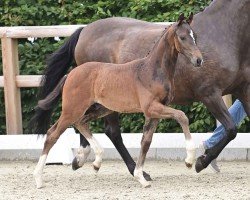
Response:
[{"label": "foal's straight front leg planted on the sand, white sock", "polygon": [[143,166],[157,123],[158,119],[146,118],[143,127],[140,155],[134,170],[134,177],[142,184],[143,187],[150,187],[150,182],[148,182],[143,176]]}]

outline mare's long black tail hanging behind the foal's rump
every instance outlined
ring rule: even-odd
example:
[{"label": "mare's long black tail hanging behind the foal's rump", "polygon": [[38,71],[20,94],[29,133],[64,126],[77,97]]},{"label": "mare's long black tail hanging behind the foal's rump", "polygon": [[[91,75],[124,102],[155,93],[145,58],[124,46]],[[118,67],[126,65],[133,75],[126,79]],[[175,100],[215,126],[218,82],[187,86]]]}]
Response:
[{"label": "mare's long black tail hanging behind the foal's rump", "polygon": [[[82,29],[83,28],[77,29],[64,43],[64,45],[49,57],[47,61],[47,68],[45,69],[44,76],[41,81],[41,89],[39,92],[39,99],[41,99],[39,101],[40,105],[38,102],[36,113],[28,124],[27,128],[29,133],[39,135],[46,134],[50,126],[53,107],[60,99],[61,92],[58,93],[58,91],[61,90],[57,91],[56,88],[60,88],[60,84],[63,85],[64,83],[60,82],[60,80],[67,73],[72,61],[74,60],[75,47]],[[56,95],[55,93],[50,94],[52,91],[57,91]],[[50,100],[46,101],[46,99]]]}]

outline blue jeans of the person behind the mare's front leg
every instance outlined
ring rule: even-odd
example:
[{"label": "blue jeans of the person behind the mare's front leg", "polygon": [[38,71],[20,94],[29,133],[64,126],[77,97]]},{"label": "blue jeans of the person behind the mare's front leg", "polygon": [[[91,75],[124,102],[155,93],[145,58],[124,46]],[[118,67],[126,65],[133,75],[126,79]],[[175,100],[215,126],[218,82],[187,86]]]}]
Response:
[{"label": "blue jeans of the person behind the mare's front leg", "polygon": [[[233,118],[233,121],[236,125],[239,125],[239,123],[247,116],[242,103],[237,99],[234,104],[229,108],[229,113]],[[203,142],[204,148],[209,149],[215,146],[219,141],[223,138],[225,135],[225,129],[224,126],[220,125],[215,130],[213,135],[208,138],[206,141]]]}]

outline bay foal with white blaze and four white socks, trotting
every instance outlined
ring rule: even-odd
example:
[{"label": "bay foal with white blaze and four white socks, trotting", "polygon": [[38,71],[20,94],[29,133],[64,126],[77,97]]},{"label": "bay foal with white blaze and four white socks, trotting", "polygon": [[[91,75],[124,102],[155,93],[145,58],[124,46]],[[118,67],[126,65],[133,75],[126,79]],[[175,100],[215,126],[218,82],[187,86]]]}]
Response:
[{"label": "bay foal with white blaze and four white socks, trotting", "polygon": [[63,78],[54,91],[38,104],[45,109],[49,107],[59,96],[65,82],[61,116],[47,132],[42,156],[34,171],[37,188],[43,186],[42,171],[49,150],[70,125],[74,125],[90,143],[96,156],[93,167],[99,170],[103,149],[83,120],[85,112],[94,103],[120,113],[144,113],[141,150],[134,171],[134,177],[142,186],[150,186],[142,170],[153,136],[149,119],[174,118],[179,122],[186,139],[185,163],[187,167],[192,167],[195,147],[188,118],[182,111],[165,106],[174,97],[173,78],[178,53],[185,55],[195,66],[202,64],[202,55],[196,46],[189,20],[185,20],[183,14],[177,23],[164,31],[147,57],[126,64],[89,62],[76,67],[67,78]]}]

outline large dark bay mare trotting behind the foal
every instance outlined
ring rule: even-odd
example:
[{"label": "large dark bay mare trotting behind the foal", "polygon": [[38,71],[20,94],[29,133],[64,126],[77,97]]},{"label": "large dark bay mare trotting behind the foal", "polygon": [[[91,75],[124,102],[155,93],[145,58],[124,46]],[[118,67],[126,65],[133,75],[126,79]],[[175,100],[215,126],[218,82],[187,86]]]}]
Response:
[{"label": "large dark bay mare trotting behind the foal", "polygon": [[[233,94],[239,98],[250,116],[249,10],[250,0],[214,0],[203,12],[194,16],[191,24],[196,33],[197,45],[203,54],[203,70],[193,68],[190,61],[182,55],[177,60],[174,80],[176,95],[173,103],[186,105],[194,101],[203,102],[224,125],[227,133],[220,143],[198,158],[198,172],[207,167],[237,134],[222,95]],[[135,19],[108,18],[77,30],[52,55],[45,72],[40,98],[45,98],[55,88],[67,73],[73,59],[80,65],[88,61],[125,63],[143,58],[153,48],[164,28],[164,25]],[[47,131],[51,110],[52,108],[37,109],[32,121],[37,128],[36,133]],[[88,112],[89,118],[92,118],[102,115],[105,109],[93,105]],[[151,123],[151,126],[154,131],[157,123]],[[105,133],[133,174],[135,162],[123,144],[117,113],[105,117]],[[81,144],[79,154],[73,162],[74,169],[83,165],[90,151],[84,137],[81,137]]]}]

